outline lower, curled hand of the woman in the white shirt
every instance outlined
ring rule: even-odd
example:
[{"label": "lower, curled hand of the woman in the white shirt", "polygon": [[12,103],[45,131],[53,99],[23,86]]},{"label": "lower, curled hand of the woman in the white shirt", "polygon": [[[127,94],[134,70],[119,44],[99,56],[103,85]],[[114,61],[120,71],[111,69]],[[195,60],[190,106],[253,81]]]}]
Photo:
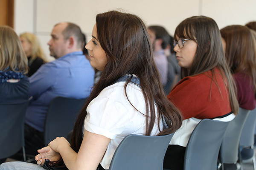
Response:
[{"label": "lower, curled hand of the woman in the white shirt", "polygon": [[38,165],[44,165],[45,159],[49,159],[50,161],[58,161],[61,159],[61,155],[58,152],[52,150],[51,147],[43,147],[42,149],[38,150],[38,155],[35,156],[36,163]]}]

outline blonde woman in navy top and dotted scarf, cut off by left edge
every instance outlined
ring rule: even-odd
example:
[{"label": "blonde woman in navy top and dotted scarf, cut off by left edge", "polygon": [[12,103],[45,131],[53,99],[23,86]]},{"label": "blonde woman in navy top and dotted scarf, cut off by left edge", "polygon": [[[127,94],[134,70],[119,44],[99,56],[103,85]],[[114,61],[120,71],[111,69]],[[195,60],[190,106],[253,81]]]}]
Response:
[{"label": "blonde woman in navy top and dotted scarf, cut off by left edge", "polygon": [[[9,26],[0,26],[0,104],[17,104],[29,98],[27,58],[20,39]],[[5,119],[0,111],[0,117]],[[5,159],[0,159],[0,164]]]}]

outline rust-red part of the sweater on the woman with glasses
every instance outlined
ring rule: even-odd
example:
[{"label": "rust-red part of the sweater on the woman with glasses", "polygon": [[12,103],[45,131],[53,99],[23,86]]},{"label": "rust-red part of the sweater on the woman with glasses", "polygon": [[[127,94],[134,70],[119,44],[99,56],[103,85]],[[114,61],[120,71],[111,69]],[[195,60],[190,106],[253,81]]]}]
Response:
[{"label": "rust-red part of the sweater on the woman with glasses", "polygon": [[[185,77],[177,83],[167,98],[183,114],[183,119],[211,119],[230,113],[228,89],[218,68],[192,77]],[[216,83],[218,83],[218,86]]]}]

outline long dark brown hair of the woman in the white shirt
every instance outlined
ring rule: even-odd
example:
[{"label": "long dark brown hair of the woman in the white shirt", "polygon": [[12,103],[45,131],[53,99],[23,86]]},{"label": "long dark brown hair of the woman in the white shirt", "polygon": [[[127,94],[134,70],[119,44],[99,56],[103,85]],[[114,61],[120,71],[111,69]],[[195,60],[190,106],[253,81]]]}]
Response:
[{"label": "long dark brown hair of the woman in the white shirt", "polygon": [[[182,116],[167,99],[160,83],[160,76],[152,56],[148,31],[143,21],[134,14],[109,11],[96,16],[97,37],[106,53],[106,64],[102,77],[93,88],[73,129],[71,147],[78,152],[82,142],[82,127],[87,115],[86,108],[99,93],[125,74],[135,74],[145,98],[146,132],[150,135],[154,123],[164,118],[168,125],[158,135],[174,132],[181,126]],[[129,80],[125,84],[126,87]],[[127,96],[127,94],[126,94]],[[157,107],[157,118],[155,113]],[[162,127],[158,127],[159,130]]]}]

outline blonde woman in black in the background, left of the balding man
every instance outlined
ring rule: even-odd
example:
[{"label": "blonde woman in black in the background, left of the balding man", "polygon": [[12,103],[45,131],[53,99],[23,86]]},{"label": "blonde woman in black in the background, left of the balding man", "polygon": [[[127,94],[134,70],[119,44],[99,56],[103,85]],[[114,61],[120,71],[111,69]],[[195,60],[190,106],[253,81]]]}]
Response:
[{"label": "blonde woman in black in the background, left of the balding man", "polygon": [[38,68],[40,68],[42,64],[44,64],[44,62],[46,62],[46,57],[40,46],[38,38],[34,34],[29,32],[20,34],[20,41],[23,50],[28,57],[28,77],[30,77],[38,70]]}]

